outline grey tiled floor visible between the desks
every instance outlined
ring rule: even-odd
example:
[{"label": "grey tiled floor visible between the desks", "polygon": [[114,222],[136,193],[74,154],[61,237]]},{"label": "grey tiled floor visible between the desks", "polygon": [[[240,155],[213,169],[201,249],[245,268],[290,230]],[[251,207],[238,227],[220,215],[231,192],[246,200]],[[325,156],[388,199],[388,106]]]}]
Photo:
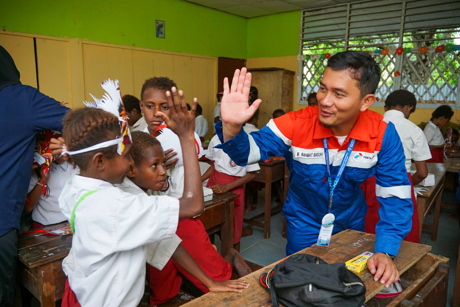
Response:
[{"label": "grey tiled floor visible between the desks", "polygon": [[[259,192],[259,202],[257,209],[245,213],[246,218],[255,216],[263,212],[263,191]],[[449,204],[457,204],[455,194],[453,192],[444,191],[443,202]],[[272,207],[276,205],[273,200]],[[458,208],[458,207],[457,207]],[[421,244],[431,245],[431,253],[435,255],[446,256],[450,259],[449,268],[449,290],[447,298],[447,307],[451,307],[452,295],[454,292],[454,275],[457,264],[457,254],[460,240],[459,221],[452,219],[450,216],[455,213],[453,208],[443,206],[441,216],[439,218],[439,229],[436,242],[431,241],[431,232],[422,231],[420,239]],[[426,217],[426,224],[431,224],[433,216]],[[241,255],[245,260],[267,266],[286,256],[285,247],[287,240],[282,237],[282,213],[271,217],[270,239],[264,239],[264,231],[262,228],[253,227],[253,235],[241,239]],[[218,246],[220,242],[218,242]]]}]

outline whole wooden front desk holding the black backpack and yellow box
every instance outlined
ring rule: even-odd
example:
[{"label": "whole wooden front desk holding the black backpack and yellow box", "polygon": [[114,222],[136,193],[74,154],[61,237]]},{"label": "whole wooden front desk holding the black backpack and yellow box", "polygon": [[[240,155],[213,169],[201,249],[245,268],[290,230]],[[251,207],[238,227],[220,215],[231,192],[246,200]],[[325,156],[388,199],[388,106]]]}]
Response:
[{"label": "whole wooden front desk holding the black backpack and yellow box", "polygon": [[[299,253],[319,256],[328,263],[345,262],[365,251],[373,251],[375,235],[355,230],[344,230],[332,236],[328,247],[313,245]],[[429,306],[446,305],[449,259],[429,254],[431,246],[403,241],[395,264],[401,273],[403,293],[400,296],[376,299],[373,296],[383,287],[375,282],[368,269],[357,273],[366,285],[367,307],[385,306]],[[279,262],[279,261],[278,261]],[[242,279],[250,284],[242,293],[209,292],[183,305],[184,307],[240,307],[272,306],[270,294],[259,284],[259,276],[268,272],[278,262],[253,272]],[[282,306],[282,305],[281,305]]]}]

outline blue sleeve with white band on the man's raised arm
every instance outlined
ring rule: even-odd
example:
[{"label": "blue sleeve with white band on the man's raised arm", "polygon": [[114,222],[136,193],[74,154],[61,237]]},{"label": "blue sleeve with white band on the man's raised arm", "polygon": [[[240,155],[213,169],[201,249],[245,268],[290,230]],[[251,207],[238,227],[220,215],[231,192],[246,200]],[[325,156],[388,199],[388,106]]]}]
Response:
[{"label": "blue sleeve with white band on the man's raised arm", "polygon": [[289,153],[289,142],[285,143],[270,129],[269,125],[250,134],[241,128],[236,136],[223,142],[222,122],[219,121],[216,124],[216,133],[222,144],[215,147],[223,149],[224,153],[227,153],[240,166],[254,164],[260,160],[266,160],[268,157],[285,156]]}]

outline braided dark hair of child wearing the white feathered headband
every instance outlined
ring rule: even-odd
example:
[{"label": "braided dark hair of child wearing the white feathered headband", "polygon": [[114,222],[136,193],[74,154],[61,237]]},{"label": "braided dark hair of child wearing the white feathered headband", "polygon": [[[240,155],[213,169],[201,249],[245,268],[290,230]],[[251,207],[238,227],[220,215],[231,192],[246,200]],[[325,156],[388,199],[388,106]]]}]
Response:
[{"label": "braided dark hair of child wearing the white feathered headband", "polygon": [[[120,136],[120,124],[118,118],[107,111],[81,108],[65,116],[62,136],[69,151],[79,150]],[[95,149],[72,155],[70,160],[72,164],[85,170],[95,153],[100,152],[107,158],[112,158],[117,154],[116,149],[117,145]]]}]

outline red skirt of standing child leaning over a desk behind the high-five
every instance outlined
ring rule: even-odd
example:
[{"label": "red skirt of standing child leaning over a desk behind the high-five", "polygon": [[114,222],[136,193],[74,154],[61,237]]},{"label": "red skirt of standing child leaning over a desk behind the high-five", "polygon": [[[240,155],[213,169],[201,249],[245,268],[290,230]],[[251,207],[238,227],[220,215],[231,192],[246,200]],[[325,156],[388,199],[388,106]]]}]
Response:
[{"label": "red skirt of standing child leaning over a desk behind the high-five", "polygon": [[[230,176],[219,171],[214,170],[209,176],[209,180],[207,181],[207,188],[215,184],[224,185],[230,182],[234,182],[241,177],[238,176]],[[244,215],[244,193],[245,193],[246,185],[243,184],[239,187],[236,187],[229,192],[235,193],[238,197],[234,200],[235,208],[234,208],[234,217],[233,217],[233,244],[240,242],[241,233],[243,231],[243,215]]]}]

